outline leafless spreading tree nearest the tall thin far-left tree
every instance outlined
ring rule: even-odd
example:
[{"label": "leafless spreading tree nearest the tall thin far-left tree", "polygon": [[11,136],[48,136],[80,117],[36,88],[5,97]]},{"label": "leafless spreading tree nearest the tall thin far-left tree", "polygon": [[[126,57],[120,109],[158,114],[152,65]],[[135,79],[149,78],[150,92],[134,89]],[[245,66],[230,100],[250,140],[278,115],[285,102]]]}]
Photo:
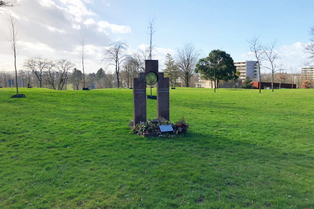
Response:
[{"label": "leafless spreading tree nearest the tall thin far-left tree", "polygon": [[24,67],[36,75],[40,88],[42,87],[43,72],[47,69],[48,64],[49,60],[43,55],[34,55],[24,60]]}]

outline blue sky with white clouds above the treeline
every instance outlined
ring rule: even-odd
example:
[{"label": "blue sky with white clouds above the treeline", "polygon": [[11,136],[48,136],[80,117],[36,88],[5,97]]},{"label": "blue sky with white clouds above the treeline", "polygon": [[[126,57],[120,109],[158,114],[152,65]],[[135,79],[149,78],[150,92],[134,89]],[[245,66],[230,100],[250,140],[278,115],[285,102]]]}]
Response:
[{"label": "blue sky with white clouds above the treeline", "polygon": [[254,60],[246,42],[254,35],[264,43],[279,39],[282,62],[300,68],[306,58],[302,44],[309,42],[308,30],[314,26],[312,0],[18,0],[18,4],[0,12],[0,69],[7,71],[14,70],[8,13],[18,22],[18,70],[35,54],[68,59],[82,70],[78,51],[81,35],[86,35],[86,73],[106,68],[103,53],[114,41],[126,41],[128,53],[143,48],[149,16],[157,18],[154,43],[160,68],[165,55],[175,55],[186,41],[202,49],[203,56],[222,49],[235,61]]}]

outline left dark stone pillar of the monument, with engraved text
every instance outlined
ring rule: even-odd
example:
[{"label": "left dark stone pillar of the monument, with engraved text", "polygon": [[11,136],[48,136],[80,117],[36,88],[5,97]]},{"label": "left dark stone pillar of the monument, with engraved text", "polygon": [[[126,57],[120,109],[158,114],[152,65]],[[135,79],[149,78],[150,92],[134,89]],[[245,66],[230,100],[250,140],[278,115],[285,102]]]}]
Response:
[{"label": "left dark stone pillar of the monument, with engraved text", "polygon": [[133,120],[134,125],[147,120],[145,73],[140,73],[139,78],[133,78]]}]

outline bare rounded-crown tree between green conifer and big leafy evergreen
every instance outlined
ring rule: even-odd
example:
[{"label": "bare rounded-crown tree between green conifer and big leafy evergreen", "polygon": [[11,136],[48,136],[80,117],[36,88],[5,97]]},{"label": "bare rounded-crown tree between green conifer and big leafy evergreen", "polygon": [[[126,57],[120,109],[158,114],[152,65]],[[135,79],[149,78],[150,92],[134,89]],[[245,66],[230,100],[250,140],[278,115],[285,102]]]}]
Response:
[{"label": "bare rounded-crown tree between green conifer and big leafy evergreen", "polygon": [[200,59],[202,50],[196,48],[192,42],[182,43],[182,46],[176,49],[176,65],[180,71],[181,78],[185,81],[186,87],[190,85],[190,79],[195,74],[195,65]]}]

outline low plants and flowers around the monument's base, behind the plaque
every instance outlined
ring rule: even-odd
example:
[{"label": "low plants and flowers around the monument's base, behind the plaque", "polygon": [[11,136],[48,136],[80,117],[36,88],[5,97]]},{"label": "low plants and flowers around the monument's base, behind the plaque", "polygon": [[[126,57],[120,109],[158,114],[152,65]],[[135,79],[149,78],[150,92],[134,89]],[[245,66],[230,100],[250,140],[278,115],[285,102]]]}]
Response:
[{"label": "low plants and flowers around the monument's base, behind the plaque", "polygon": [[154,118],[153,120],[147,119],[146,122],[140,122],[133,125],[133,120],[131,119],[129,123],[129,127],[132,130],[132,133],[142,134],[142,133],[158,133],[162,134],[160,131],[160,125],[171,125],[173,128],[173,133],[188,133],[189,124],[186,123],[184,117],[182,117],[179,121],[171,123],[167,121],[165,118]]}]

